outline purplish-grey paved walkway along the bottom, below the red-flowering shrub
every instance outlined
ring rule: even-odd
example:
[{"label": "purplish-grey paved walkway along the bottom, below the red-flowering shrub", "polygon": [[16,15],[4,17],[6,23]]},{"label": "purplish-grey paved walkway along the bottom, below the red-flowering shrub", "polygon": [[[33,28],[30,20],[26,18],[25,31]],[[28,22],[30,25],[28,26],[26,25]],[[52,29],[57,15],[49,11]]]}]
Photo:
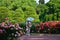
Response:
[{"label": "purplish-grey paved walkway along the bottom, below the red-flowering shrub", "polygon": [[37,34],[31,36],[22,36],[20,40],[60,40],[60,34]]}]

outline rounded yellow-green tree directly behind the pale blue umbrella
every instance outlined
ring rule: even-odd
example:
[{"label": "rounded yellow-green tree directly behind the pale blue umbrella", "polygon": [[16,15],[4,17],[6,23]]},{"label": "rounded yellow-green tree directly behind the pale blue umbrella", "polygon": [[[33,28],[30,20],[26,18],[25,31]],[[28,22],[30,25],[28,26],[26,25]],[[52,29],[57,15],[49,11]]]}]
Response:
[{"label": "rounded yellow-green tree directly behind the pale blue umbrella", "polygon": [[34,22],[38,22],[39,18],[38,15],[36,14],[36,10],[33,7],[27,6],[25,7],[25,11],[24,11],[24,15],[25,15],[25,19],[27,19],[28,17],[33,17],[34,18]]}]

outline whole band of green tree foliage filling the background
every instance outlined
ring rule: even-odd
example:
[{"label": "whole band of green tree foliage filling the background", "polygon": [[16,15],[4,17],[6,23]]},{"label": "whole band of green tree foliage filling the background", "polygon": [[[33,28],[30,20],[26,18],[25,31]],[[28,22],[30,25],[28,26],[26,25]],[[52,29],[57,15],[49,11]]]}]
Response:
[{"label": "whole band of green tree foliage filling the background", "polygon": [[34,22],[60,21],[60,0],[50,0],[44,3],[39,0],[0,0],[0,20],[8,17],[11,22],[25,22],[28,17],[33,17]]}]

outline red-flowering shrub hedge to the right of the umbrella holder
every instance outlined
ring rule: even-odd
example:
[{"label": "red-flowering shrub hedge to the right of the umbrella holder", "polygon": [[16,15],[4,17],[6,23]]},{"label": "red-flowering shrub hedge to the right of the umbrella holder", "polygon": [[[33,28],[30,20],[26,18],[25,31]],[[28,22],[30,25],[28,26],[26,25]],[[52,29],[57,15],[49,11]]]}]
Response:
[{"label": "red-flowering shrub hedge to the right of the umbrella holder", "polygon": [[45,33],[60,33],[60,21],[40,22],[36,24],[36,30]]}]

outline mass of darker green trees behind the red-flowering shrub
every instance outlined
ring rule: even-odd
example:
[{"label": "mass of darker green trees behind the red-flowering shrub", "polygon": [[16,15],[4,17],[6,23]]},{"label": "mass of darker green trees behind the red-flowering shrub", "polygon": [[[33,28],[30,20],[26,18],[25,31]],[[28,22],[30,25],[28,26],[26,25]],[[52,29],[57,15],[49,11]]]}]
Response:
[{"label": "mass of darker green trees behind the red-flowering shrub", "polygon": [[60,1],[50,0],[46,4],[39,4],[37,8],[37,13],[39,13],[39,19],[45,20],[46,16],[49,16],[47,20],[59,20],[60,13]]}]

